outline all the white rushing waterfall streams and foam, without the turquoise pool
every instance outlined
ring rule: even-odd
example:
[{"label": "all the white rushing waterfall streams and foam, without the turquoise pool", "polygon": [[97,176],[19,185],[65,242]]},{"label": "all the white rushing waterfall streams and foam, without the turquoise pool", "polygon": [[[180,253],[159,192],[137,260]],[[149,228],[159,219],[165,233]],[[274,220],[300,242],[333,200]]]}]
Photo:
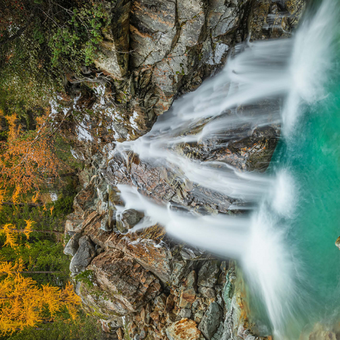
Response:
[{"label": "all the white rushing waterfall streams and foam, without the turquoise pool", "polygon": [[[295,273],[302,268],[285,244],[286,230],[277,227],[281,217],[289,219],[295,213],[298,192],[289,169],[276,178],[246,174],[221,162],[190,160],[174,147],[230,137],[226,131],[244,125],[254,129],[281,121],[283,136],[289,138],[301,107],[324,96],[323,82],[331,63],[325,51],[331,47],[335,13],[334,2],[324,1],[293,38],[239,45],[220,74],[177,100],[149,134],[114,150],[123,155],[133,151],[140,159],[173,169],[183,179],[258,203],[250,217],[200,216],[171,210],[169,204],[156,205],[136,188],[119,186],[126,208],[145,211],[150,225],[159,222],[188,244],[237,259],[251,289],[263,299],[276,339],[285,339],[286,319],[295,315],[292,302],[304,303],[295,286]],[[203,123],[196,134],[190,134]]]}]

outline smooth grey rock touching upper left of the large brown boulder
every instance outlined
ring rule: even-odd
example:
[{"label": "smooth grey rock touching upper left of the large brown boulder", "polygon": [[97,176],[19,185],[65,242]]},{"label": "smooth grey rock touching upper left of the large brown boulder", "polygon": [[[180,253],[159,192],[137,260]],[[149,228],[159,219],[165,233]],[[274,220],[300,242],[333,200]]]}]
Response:
[{"label": "smooth grey rock touching upper left of the large brown boulder", "polygon": [[72,271],[72,273],[85,271],[95,256],[96,250],[91,239],[88,236],[81,237],[79,239],[79,249],[69,265],[69,270]]}]

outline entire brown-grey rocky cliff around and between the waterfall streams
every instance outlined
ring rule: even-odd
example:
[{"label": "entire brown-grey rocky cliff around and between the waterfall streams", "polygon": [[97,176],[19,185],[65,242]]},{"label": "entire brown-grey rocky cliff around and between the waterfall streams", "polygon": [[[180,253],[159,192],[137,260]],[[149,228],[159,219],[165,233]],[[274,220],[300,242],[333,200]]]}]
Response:
[{"label": "entire brown-grey rocky cliff around and between the waterfall streams", "polygon": [[[302,6],[302,0],[118,1],[98,71],[84,69],[84,79],[69,81],[69,96],[57,98],[52,113],[60,124],[61,107],[64,116],[72,113],[64,133],[86,165],[64,251],[73,256],[70,270],[84,309],[112,339],[271,338],[256,334],[247,318],[233,261],[179,244],[162,225],[128,232],[144,215],[120,208],[117,185],[137,186],[159,203],[200,214],[239,213],[229,210],[235,199],[181,181],[174,169],[136,154],[113,151],[115,142],[145,135],[175,98],[218,72],[237,43],[289,37]],[[225,132],[227,144],[217,138],[209,145],[179,145],[176,152],[239,171],[265,171],[279,133],[278,125],[244,125]]]}]

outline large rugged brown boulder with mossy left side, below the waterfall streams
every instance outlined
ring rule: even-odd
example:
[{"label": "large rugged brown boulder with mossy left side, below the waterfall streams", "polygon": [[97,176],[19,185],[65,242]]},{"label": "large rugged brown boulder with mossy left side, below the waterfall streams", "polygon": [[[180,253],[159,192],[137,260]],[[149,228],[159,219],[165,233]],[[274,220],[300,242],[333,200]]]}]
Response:
[{"label": "large rugged brown boulder with mossy left side, below the waterfall streams", "polygon": [[93,286],[82,284],[81,298],[87,312],[102,319],[137,312],[161,293],[159,280],[122,251],[101,253],[87,268]]}]

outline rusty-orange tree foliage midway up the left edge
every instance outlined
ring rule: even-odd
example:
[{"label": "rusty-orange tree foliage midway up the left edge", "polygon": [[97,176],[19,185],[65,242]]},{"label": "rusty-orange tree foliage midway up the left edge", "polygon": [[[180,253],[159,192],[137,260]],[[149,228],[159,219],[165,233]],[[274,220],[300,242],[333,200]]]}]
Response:
[{"label": "rusty-orange tree foliage midway up the left edge", "polygon": [[26,193],[58,176],[62,164],[55,154],[47,113],[36,118],[34,131],[24,131],[17,115],[6,115],[8,137],[0,142],[0,188]]}]

